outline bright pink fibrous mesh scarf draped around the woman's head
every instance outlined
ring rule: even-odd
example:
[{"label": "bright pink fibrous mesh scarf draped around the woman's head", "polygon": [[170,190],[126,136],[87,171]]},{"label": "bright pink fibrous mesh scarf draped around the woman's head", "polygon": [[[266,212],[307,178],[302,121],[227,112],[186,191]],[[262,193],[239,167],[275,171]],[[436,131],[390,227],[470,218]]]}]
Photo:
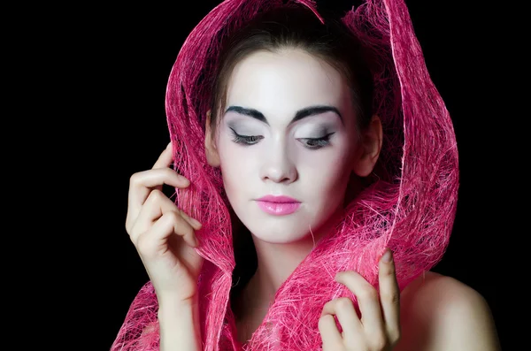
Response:
[{"label": "bright pink fibrous mesh scarf draped around the woman's head", "polygon": [[[219,4],[189,34],[167,85],[175,168],[192,184],[177,192],[177,203],[203,223],[197,252],[205,258],[198,281],[204,350],[319,350],[322,306],[340,296],[356,302],[345,286],[335,282],[335,272],[358,271],[377,287],[378,258],[389,247],[402,290],[441,260],[456,213],[455,134],[430,80],[404,0],[367,0],[342,21],[378,60],[373,109],[382,120],[381,164],[391,180],[373,182],[349,204],[337,231],[320,240],[281,285],[249,344],[238,343],[229,304],[235,257],[227,199],[219,169],[207,165],[204,152],[211,94],[205,77],[214,70],[220,38],[258,11],[302,5],[301,11],[305,6],[320,19],[311,0],[284,3],[226,0]],[[131,304],[112,351],[158,350],[157,311],[157,296],[148,282]]]}]

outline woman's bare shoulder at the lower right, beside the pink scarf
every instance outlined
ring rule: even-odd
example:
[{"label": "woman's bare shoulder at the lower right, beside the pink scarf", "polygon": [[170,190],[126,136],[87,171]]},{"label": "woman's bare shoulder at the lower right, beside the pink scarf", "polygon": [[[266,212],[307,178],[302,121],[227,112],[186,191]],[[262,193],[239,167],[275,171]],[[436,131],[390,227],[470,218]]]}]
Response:
[{"label": "woman's bare shoulder at the lower right, beside the pink scarf", "polygon": [[435,272],[401,294],[401,350],[500,349],[488,302],[471,286]]}]

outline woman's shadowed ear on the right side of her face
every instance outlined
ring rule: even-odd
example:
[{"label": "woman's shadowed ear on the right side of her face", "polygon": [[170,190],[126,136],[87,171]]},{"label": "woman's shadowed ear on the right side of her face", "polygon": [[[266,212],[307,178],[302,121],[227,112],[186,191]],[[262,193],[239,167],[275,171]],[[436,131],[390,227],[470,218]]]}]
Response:
[{"label": "woman's shadowed ear on the right side of her face", "polygon": [[369,126],[361,132],[361,140],[354,160],[352,171],[359,177],[366,177],[373,172],[374,165],[380,156],[381,140],[381,120],[377,115],[373,115]]}]

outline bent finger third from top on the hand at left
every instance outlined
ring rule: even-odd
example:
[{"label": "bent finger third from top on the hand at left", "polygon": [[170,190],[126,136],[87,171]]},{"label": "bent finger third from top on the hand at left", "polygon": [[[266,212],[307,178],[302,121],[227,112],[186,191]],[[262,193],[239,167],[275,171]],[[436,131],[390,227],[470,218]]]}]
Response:
[{"label": "bent finger third from top on the hand at left", "polygon": [[183,211],[179,210],[177,206],[164,195],[164,193],[159,190],[153,190],[135,220],[132,235],[135,236],[138,235],[138,233],[148,231],[151,225],[153,225],[159,217],[162,217],[168,212],[177,213],[188,223],[189,226],[192,227],[192,230],[201,228],[201,224],[196,219],[189,217]]}]

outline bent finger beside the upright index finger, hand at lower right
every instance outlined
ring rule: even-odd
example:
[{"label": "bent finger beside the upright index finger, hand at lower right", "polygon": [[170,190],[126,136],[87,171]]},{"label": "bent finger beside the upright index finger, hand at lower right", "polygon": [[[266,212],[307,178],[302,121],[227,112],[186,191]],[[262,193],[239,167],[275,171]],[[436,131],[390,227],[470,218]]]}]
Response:
[{"label": "bent finger beside the upright index finger, hand at lower right", "polygon": [[342,271],[335,280],[347,286],[358,299],[361,324],[369,337],[380,338],[383,333],[383,320],[378,292],[356,271]]}]

